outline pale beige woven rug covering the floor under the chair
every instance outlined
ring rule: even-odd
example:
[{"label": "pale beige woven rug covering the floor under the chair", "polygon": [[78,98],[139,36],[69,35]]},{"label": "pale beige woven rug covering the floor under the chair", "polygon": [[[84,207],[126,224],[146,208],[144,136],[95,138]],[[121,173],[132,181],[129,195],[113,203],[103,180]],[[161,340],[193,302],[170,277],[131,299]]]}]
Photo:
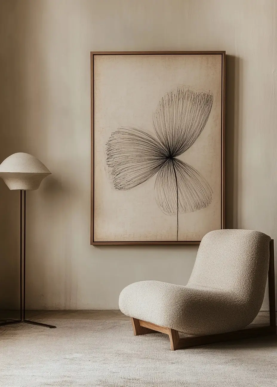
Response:
[{"label": "pale beige woven rug covering the floor under the chair", "polygon": [[276,387],[275,337],[169,350],[129,321],[40,320],[0,329],[2,387]]}]

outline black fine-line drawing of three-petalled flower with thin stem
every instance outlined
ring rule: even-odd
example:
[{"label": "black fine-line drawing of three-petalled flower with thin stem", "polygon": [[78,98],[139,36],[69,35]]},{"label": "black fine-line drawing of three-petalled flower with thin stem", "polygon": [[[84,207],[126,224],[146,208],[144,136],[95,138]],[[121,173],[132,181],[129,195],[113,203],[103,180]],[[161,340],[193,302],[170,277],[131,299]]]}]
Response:
[{"label": "black fine-line drawing of three-petalled flower with thin stem", "polygon": [[107,144],[107,165],[117,190],[130,190],[157,174],[155,198],[167,215],[203,209],[212,202],[205,178],[178,156],[199,137],[210,115],[213,94],[178,88],[168,92],[153,114],[157,138],[135,127],[118,128]]}]

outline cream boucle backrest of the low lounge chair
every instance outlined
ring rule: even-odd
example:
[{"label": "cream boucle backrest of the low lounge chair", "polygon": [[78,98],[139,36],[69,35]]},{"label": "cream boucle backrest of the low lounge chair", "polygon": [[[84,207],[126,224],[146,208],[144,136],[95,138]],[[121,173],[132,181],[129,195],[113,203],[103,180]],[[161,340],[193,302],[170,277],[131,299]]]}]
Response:
[{"label": "cream boucle backrest of the low lounge chair", "polygon": [[252,230],[215,230],[199,246],[188,286],[224,290],[262,305],[270,236]]}]

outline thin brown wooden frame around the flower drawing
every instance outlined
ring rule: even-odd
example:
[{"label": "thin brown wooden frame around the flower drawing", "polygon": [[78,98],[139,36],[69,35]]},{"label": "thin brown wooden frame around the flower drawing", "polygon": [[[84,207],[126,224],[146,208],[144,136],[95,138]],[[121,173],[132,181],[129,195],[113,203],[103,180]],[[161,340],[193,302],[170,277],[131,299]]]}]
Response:
[{"label": "thin brown wooden frame around the flower drawing", "polygon": [[226,51],[91,51],[91,245],[199,245],[200,241],[94,241],[94,55],[222,55],[221,228],[225,228]]}]

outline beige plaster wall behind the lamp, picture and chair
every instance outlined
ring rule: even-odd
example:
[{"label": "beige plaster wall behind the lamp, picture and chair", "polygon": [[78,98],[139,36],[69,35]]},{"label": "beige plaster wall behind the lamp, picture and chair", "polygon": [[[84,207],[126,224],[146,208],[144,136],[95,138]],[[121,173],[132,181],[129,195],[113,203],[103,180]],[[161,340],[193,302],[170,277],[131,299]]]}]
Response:
[{"label": "beige plaster wall behind the lamp, picture and chair", "polygon": [[[90,246],[90,51],[226,50],[227,226],[277,239],[276,15],[275,0],[0,1],[0,161],[28,152],[53,173],[27,192],[27,308],[115,309],[133,281],[186,284],[197,253]],[[1,181],[0,308],[17,305],[18,211]]]}]

